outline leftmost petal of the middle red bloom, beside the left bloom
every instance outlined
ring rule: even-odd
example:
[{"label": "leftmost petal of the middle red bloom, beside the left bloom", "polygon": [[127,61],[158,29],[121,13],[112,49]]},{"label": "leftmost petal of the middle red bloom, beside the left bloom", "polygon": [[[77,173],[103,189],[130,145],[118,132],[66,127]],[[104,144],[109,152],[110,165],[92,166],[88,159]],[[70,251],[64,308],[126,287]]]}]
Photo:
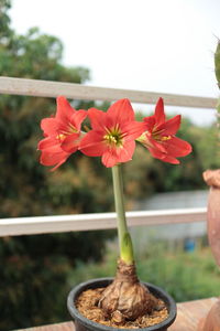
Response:
[{"label": "leftmost petal of the middle red bloom, beside the left bloom", "polygon": [[79,150],[88,157],[100,157],[108,149],[107,145],[102,141],[103,136],[89,131],[80,141]]}]

